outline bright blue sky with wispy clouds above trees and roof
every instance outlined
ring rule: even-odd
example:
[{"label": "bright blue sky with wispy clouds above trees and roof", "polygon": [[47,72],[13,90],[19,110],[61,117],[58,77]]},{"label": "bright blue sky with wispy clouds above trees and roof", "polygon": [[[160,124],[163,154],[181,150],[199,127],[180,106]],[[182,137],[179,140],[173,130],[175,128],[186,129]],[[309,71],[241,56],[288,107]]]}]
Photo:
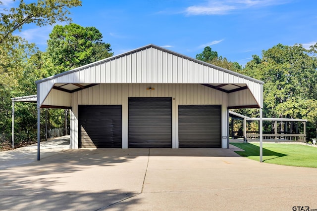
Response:
[{"label": "bright blue sky with wispy clouds above trees and roof", "polygon": [[[99,29],[115,55],[153,43],[195,57],[209,45],[245,65],[278,43],[316,43],[316,8],[316,0],[82,0],[70,17]],[[30,25],[18,34],[45,50],[52,29]]]}]

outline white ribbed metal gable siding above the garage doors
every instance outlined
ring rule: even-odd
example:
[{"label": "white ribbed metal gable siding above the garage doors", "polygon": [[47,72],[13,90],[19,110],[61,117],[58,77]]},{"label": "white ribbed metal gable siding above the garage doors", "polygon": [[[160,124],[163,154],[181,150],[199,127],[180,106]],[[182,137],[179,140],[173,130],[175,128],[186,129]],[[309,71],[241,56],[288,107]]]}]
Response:
[{"label": "white ribbed metal gable siding above the garage doors", "polygon": [[[261,102],[261,85],[242,75],[218,70],[207,64],[155,47],[143,48],[120,57],[78,68],[64,75],[40,82],[39,103],[43,104],[55,83],[94,84],[247,84],[257,102]],[[231,95],[230,95],[231,96]],[[262,105],[261,105],[262,106]]]}]

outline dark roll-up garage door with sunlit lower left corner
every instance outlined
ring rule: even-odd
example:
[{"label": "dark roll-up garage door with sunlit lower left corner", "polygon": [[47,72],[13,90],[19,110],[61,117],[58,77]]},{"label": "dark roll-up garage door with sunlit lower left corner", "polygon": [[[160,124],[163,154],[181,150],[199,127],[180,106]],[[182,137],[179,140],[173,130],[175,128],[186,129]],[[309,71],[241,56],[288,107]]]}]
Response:
[{"label": "dark roll-up garage door with sunlit lower left corner", "polygon": [[121,105],[78,105],[79,148],[121,148],[121,107]]}]

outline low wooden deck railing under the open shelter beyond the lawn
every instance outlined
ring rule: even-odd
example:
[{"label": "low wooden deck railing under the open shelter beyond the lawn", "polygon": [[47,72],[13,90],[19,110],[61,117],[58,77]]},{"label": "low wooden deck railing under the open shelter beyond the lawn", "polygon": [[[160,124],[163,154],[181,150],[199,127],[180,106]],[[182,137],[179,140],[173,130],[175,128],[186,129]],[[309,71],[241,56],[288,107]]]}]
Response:
[{"label": "low wooden deck railing under the open shelter beyond the lawn", "polygon": [[[260,134],[247,133],[247,141],[260,141]],[[263,141],[300,141],[306,142],[306,134],[263,134]]]}]

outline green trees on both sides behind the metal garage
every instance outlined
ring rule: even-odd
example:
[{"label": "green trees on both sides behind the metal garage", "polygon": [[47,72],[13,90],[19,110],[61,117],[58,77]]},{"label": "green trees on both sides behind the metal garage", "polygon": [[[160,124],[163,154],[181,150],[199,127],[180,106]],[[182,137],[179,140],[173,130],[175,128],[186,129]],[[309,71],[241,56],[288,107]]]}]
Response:
[{"label": "green trees on both sides behind the metal garage", "polygon": [[[98,29],[72,23],[68,9],[76,6],[81,6],[80,0],[20,0],[16,7],[1,10],[0,134],[11,133],[11,97],[36,94],[35,81],[113,55]],[[41,27],[56,22],[68,24],[53,27],[46,51],[14,34],[26,24]],[[301,44],[277,44],[263,50],[261,56],[254,55],[245,67],[219,56],[210,46],[196,58],[264,81],[264,117],[308,119],[307,133],[312,138],[317,134],[316,55],[317,44],[310,49]],[[37,131],[36,105],[16,103],[15,110],[16,131],[23,133],[23,138],[32,139]],[[257,115],[252,109],[241,112]],[[49,127],[63,127],[67,118],[63,110],[48,110],[41,113],[41,125],[48,119]]]}]

